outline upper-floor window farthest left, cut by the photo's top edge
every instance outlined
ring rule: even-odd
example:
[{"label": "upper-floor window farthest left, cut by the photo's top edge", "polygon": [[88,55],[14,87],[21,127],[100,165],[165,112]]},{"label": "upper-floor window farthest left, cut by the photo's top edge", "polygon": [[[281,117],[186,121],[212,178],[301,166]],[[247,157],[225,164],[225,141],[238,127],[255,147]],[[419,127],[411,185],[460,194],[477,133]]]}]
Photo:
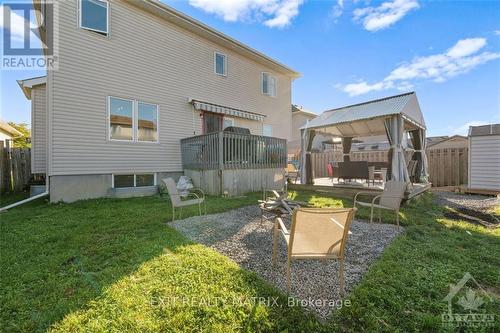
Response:
[{"label": "upper-floor window farthest left, cut by the photo's top edge", "polygon": [[108,34],[109,3],[106,0],[80,0],[80,28]]}]

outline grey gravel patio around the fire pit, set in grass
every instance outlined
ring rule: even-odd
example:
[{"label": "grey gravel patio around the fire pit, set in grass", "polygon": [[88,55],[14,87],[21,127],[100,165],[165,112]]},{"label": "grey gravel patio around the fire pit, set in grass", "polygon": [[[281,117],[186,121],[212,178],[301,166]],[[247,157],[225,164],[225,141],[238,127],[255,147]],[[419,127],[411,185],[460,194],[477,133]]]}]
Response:
[{"label": "grey gravel patio around the fire pit, set in grass", "polygon": [[[169,223],[191,240],[205,244],[240,266],[254,271],[277,288],[286,290],[286,244],[280,238],[278,264],[271,265],[271,221],[260,222],[260,210],[248,206],[221,214],[195,216]],[[289,221],[285,224],[289,227]],[[370,265],[380,256],[403,228],[392,224],[353,221],[349,235],[345,261],[345,287],[349,293],[361,280]],[[329,260],[292,262],[293,296],[303,300],[307,307],[326,318],[340,299],[338,263]],[[348,295],[346,296],[348,299]],[[316,304],[313,304],[317,302]]]}]

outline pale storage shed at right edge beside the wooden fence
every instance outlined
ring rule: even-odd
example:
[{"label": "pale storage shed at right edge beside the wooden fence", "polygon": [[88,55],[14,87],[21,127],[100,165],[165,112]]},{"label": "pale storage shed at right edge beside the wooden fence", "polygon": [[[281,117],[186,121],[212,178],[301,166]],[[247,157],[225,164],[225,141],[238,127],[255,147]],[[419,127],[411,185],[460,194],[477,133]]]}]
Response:
[{"label": "pale storage shed at right edge beside the wooden fence", "polygon": [[500,192],[500,124],[469,127],[469,188]]}]

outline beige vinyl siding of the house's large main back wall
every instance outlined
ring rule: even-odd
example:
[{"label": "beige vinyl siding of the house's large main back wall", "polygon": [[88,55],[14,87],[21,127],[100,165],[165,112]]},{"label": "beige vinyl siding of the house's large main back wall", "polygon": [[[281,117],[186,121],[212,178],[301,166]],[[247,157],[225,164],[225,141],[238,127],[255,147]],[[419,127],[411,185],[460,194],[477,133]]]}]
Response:
[{"label": "beige vinyl siding of the house's large main back wall", "polygon": [[[270,71],[124,2],[110,3],[110,35],[78,28],[76,0],[59,2],[59,70],[52,76],[51,174],[182,170],[179,140],[201,133],[188,98],[265,114],[290,137],[291,79],[273,73],[278,97],[261,94]],[[214,74],[214,51],[227,77]],[[50,76],[50,75],[49,75]],[[110,142],[107,97],[159,105],[159,143]],[[262,127],[261,123],[252,127]]]}]

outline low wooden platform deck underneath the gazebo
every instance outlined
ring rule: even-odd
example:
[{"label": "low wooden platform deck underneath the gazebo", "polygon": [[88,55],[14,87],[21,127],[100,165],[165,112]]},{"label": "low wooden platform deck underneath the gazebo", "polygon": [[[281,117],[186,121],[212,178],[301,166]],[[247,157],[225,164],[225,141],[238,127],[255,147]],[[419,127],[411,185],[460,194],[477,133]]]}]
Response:
[{"label": "low wooden platform deck underneath the gazebo", "polygon": [[[418,195],[424,193],[425,191],[431,188],[431,184],[413,184],[413,189],[411,192],[405,193],[405,199],[410,200],[412,198],[417,197]],[[318,191],[318,192],[327,192],[338,195],[344,198],[353,198],[354,195],[358,192],[373,192],[373,195],[378,195],[382,193],[384,189],[384,184],[381,182],[375,182],[373,184],[366,184],[365,181],[357,181],[350,183],[342,183],[338,182],[336,178],[315,178],[314,185],[306,185],[300,184],[289,184],[289,190],[298,190],[298,191]]]}]

